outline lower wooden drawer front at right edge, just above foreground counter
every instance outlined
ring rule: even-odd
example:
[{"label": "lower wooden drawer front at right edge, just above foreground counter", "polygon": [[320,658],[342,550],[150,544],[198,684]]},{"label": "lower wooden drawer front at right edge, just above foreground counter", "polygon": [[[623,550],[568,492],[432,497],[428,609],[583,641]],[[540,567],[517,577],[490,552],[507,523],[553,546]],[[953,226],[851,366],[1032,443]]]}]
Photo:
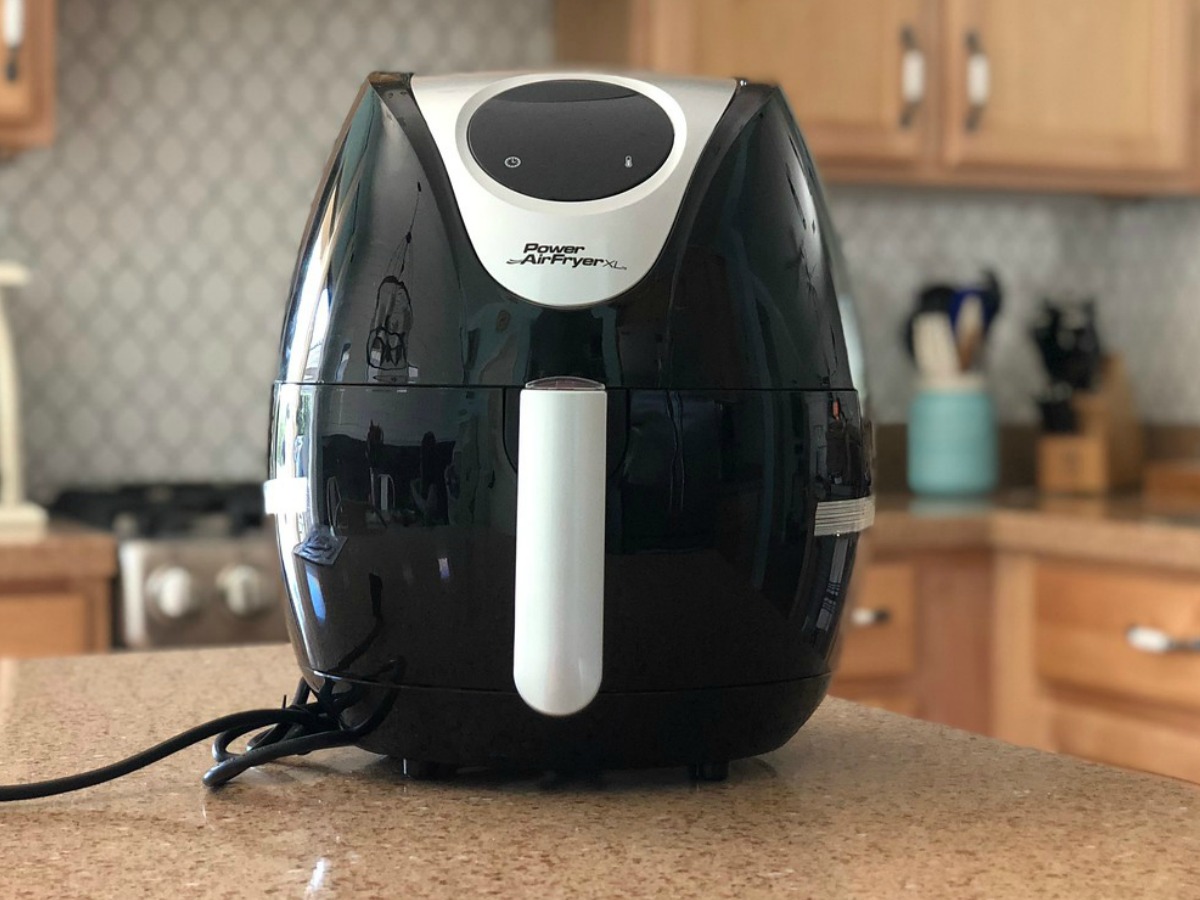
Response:
[{"label": "lower wooden drawer front at right edge, just above foreground counter", "polygon": [[1200,731],[1102,708],[1055,704],[1050,739],[1055,750],[1072,756],[1200,781]]}]

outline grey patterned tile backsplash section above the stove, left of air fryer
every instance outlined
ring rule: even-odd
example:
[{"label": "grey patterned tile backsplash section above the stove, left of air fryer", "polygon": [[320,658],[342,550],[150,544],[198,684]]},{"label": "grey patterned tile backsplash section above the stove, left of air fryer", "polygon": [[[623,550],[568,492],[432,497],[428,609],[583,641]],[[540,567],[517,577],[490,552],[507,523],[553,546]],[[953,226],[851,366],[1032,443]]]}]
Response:
[{"label": "grey patterned tile backsplash section above the stove, left of air fryer", "polygon": [[551,0],[60,0],[59,136],[0,164],[29,482],[260,479],[280,323],[364,77],[551,59]]}]

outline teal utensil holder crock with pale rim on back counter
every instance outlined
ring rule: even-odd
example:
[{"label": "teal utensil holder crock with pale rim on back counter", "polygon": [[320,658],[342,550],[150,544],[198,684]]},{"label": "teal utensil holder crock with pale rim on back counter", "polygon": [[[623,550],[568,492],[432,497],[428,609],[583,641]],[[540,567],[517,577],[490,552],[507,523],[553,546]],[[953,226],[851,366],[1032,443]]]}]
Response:
[{"label": "teal utensil holder crock with pale rim on back counter", "polygon": [[996,408],[977,376],[923,383],[908,410],[908,488],[936,497],[996,490]]}]

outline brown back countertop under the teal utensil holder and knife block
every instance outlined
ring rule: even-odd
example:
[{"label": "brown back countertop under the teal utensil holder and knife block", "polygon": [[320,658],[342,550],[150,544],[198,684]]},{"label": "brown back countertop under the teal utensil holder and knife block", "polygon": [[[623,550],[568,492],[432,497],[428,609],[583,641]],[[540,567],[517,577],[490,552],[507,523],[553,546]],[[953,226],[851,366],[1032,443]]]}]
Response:
[{"label": "brown back countertop under the teal utensil holder and knife block", "polygon": [[884,553],[980,548],[1200,572],[1200,509],[1135,496],[883,496],[870,540]]}]

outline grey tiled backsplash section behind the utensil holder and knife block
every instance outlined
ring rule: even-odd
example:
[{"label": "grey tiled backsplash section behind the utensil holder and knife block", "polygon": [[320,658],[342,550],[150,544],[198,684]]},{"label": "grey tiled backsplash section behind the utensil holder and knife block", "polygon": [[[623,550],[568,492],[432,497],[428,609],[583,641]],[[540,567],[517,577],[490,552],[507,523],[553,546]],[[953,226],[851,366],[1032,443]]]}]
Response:
[{"label": "grey tiled backsplash section behind the utensil holder and knife block", "polygon": [[875,416],[905,419],[912,365],[900,329],[920,286],[1000,275],[1004,311],[989,376],[1000,416],[1037,419],[1043,386],[1027,328],[1043,296],[1094,296],[1108,349],[1124,355],[1141,415],[1200,422],[1200,200],[1106,200],[830,190],[870,367]]}]

